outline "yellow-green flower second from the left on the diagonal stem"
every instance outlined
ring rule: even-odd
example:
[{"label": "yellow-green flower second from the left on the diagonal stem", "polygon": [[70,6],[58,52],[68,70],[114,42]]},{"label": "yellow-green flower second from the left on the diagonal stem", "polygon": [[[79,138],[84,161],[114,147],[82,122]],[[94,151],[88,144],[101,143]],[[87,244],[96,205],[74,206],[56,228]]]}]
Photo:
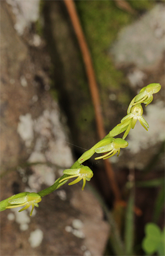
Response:
[{"label": "yellow-green flower second from the left on the diagonal stem", "polygon": [[83,180],[82,190],[84,189],[84,186],[86,184],[86,180],[90,181],[93,177],[93,172],[88,166],[81,165],[79,168],[76,169],[66,169],[63,171],[64,174],[71,175],[69,177],[65,177],[59,181],[62,182],[64,180],[77,177],[74,181],[70,182],[68,185],[73,185],[80,180]]}]

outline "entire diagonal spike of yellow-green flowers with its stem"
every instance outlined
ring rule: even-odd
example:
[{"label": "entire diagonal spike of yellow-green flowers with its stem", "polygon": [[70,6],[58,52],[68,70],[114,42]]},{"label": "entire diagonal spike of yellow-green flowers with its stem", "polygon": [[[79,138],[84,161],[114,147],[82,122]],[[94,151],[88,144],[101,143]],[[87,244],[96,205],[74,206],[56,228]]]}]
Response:
[{"label": "entire diagonal spike of yellow-green flowers with its stem", "polygon": [[[94,153],[107,153],[105,155],[101,155],[95,159],[107,159],[114,156],[116,153],[117,156],[120,154],[121,148],[126,148],[128,146],[128,142],[124,139],[130,132],[131,128],[133,129],[137,120],[140,121],[140,124],[148,131],[149,125],[147,121],[143,118],[143,109],[141,103],[146,104],[146,106],[151,103],[153,99],[153,94],[157,93],[161,88],[161,85],[158,83],[149,84],[148,86],[142,88],[140,93],[134,97],[128,107],[127,115],[121,120],[120,124],[117,124],[115,128],[110,131],[107,136],[99,141],[96,145],[94,145],[90,150],[87,150],[82,154],[82,156],[74,163],[74,165],[70,169],[66,169],[63,171],[64,175],[55,181],[54,190],[59,186],[66,183],[66,181],[70,178],[77,177],[74,181],[70,182],[69,185],[73,185],[80,180],[83,180],[82,190],[84,189],[86,180],[90,181],[93,177],[92,170],[83,166],[82,163],[87,159],[90,159]],[[124,132],[123,138],[113,138],[118,134]],[[49,188],[48,188],[49,189]],[[52,192],[52,191],[51,191]],[[32,205],[32,211],[30,215],[32,215],[34,206],[38,207],[38,203],[41,202],[41,195],[44,196],[51,192],[46,192],[45,194],[39,192],[37,193],[19,193],[13,195],[6,200],[0,202],[0,211],[4,211],[6,209],[25,206],[19,212],[27,209],[30,205]]]}]

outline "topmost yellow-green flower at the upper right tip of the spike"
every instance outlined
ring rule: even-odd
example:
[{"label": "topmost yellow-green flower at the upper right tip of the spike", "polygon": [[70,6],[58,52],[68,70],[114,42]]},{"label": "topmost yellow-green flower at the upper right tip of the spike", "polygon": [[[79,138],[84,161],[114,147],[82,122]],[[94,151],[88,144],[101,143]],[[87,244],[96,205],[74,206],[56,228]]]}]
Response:
[{"label": "topmost yellow-green flower at the upper right tip of the spike", "polygon": [[127,110],[127,114],[131,113],[132,106],[144,103],[146,106],[153,100],[153,94],[157,93],[161,89],[161,85],[157,83],[149,84],[148,86],[142,88],[140,93],[135,96]]}]

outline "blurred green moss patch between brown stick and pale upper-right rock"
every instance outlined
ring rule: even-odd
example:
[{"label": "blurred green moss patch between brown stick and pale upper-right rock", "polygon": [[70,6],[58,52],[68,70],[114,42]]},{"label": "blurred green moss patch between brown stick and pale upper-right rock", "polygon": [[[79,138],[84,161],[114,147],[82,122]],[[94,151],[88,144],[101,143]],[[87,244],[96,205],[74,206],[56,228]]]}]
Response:
[{"label": "blurred green moss patch between brown stick and pale upper-right rock", "polygon": [[131,14],[118,9],[114,1],[79,0],[75,3],[100,86],[119,88],[124,74],[115,69],[109,48],[117,32],[132,21]]}]

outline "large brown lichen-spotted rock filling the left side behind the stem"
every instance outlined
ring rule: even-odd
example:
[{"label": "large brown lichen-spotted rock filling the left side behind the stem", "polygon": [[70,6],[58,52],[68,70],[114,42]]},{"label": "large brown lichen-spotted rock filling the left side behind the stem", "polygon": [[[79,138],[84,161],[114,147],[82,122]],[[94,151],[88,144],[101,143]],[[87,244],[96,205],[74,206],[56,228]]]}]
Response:
[{"label": "large brown lichen-spotted rock filling the left side behind the stem", "polygon": [[[12,1],[12,4],[29,1]],[[36,8],[36,1],[30,1]],[[21,6],[22,6],[21,5]],[[70,168],[74,159],[69,142],[66,117],[58,102],[49,93],[50,57],[45,43],[32,44],[35,31],[31,31],[32,19],[22,32],[16,31],[13,6],[2,1],[1,7],[1,200],[24,191],[38,192],[52,185],[56,178]],[[24,6],[25,7],[25,6]],[[21,11],[18,8],[18,11]],[[29,13],[21,12],[26,19]],[[28,11],[28,9],[27,9]],[[39,10],[37,10],[39,11]],[[15,27],[15,28],[14,28]],[[19,33],[19,35],[17,34]],[[22,37],[20,36],[22,35]],[[67,184],[42,198],[39,208],[30,217],[29,209],[1,212],[1,252],[3,256],[18,255],[102,255],[108,238],[109,226],[103,220],[99,202],[82,185]],[[75,194],[86,202],[89,214],[78,204],[71,203]],[[92,204],[86,201],[91,197]],[[90,203],[89,205],[87,205]],[[92,220],[93,207],[97,221]],[[90,210],[91,209],[91,210]],[[90,232],[75,226],[72,232],[66,227],[74,220],[88,223]],[[103,230],[98,240],[95,230]],[[86,244],[92,238],[98,247]],[[99,245],[100,243],[100,245]],[[93,254],[94,253],[94,254]]]}]

